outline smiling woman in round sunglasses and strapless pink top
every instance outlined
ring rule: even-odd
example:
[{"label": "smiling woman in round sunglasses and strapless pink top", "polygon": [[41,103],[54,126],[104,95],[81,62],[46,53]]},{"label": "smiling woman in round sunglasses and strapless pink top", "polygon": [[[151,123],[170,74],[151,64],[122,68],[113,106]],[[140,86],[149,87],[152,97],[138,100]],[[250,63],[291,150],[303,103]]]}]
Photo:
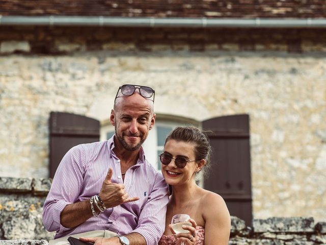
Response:
[{"label": "smiling woman in round sunglasses and strapless pink top", "polygon": [[[228,244],[231,221],[223,198],[200,188],[195,176],[207,164],[211,147],[207,137],[195,127],[177,127],[167,137],[160,157],[162,174],[172,186],[166,227],[158,245]],[[175,214],[188,214],[189,233],[175,234],[171,219]]]}]

